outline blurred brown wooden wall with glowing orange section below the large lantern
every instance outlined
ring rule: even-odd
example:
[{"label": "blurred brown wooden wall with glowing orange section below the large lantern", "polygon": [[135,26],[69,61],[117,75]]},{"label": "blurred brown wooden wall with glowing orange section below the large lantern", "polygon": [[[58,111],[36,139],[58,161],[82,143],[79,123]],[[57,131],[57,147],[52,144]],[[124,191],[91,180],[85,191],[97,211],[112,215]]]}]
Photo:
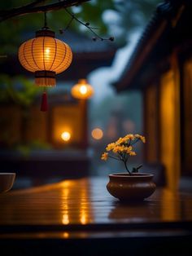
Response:
[{"label": "blurred brown wooden wall with glowing orange section below the large lantern", "polygon": [[[71,134],[69,143],[61,139],[63,131]],[[0,147],[11,148],[18,144],[42,143],[53,147],[87,147],[87,105],[80,100],[68,104],[52,105],[47,113],[39,106],[22,110],[15,105],[0,108]]]}]

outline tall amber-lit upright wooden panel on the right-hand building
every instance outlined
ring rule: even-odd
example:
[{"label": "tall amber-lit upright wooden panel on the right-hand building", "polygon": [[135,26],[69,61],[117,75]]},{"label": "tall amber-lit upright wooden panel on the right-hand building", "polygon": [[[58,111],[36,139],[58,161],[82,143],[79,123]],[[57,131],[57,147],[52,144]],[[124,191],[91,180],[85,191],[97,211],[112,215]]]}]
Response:
[{"label": "tall amber-lit upright wooden panel on the right-hand building", "polygon": [[180,77],[177,55],[171,56],[171,69],[161,77],[160,160],[166,168],[168,188],[177,189],[181,172],[180,145]]}]

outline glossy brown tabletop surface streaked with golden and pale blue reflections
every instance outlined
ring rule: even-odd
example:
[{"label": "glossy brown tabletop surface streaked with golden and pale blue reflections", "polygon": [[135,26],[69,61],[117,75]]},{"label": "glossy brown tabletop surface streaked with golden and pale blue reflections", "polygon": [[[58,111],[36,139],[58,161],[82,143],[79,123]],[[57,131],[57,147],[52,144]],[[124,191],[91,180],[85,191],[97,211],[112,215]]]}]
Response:
[{"label": "glossy brown tabletop surface streaked with golden and pale blue reflections", "polygon": [[[31,228],[41,225],[59,226],[65,233],[74,228],[74,224],[84,228],[88,224],[101,223],[192,221],[191,193],[157,189],[142,203],[122,205],[109,195],[106,183],[102,178],[66,180],[0,194],[0,230],[2,225],[18,229],[22,225]],[[64,233],[62,236],[68,236]]]}]

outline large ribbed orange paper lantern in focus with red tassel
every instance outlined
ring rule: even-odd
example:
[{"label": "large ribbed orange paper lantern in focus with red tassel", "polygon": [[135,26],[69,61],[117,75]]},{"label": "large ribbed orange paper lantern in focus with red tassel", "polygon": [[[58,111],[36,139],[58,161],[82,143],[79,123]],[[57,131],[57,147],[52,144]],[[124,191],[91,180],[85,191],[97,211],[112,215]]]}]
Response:
[{"label": "large ribbed orange paper lantern in focus with red tassel", "polygon": [[[55,38],[55,32],[44,27],[36,32],[36,38],[20,46],[19,60],[24,68],[35,73],[37,86],[55,86],[55,75],[69,67],[72,51],[68,44]],[[41,110],[46,111],[46,92],[42,101]]]}]

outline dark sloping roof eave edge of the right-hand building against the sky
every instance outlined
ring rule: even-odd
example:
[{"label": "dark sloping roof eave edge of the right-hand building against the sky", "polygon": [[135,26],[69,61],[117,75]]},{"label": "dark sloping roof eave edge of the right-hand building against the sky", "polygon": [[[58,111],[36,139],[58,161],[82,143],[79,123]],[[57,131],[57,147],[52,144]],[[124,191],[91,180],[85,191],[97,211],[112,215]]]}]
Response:
[{"label": "dark sloping roof eave edge of the right-hand building against the sky", "polygon": [[147,56],[155,48],[156,42],[161,38],[164,31],[170,26],[170,20],[174,12],[172,1],[166,1],[157,7],[155,14],[151,17],[149,24],[147,24],[140,40],[137,42],[133,55],[124,68],[120,80],[113,84],[117,91],[134,89],[133,81],[135,77],[139,76],[139,71],[142,65],[145,64]]}]

